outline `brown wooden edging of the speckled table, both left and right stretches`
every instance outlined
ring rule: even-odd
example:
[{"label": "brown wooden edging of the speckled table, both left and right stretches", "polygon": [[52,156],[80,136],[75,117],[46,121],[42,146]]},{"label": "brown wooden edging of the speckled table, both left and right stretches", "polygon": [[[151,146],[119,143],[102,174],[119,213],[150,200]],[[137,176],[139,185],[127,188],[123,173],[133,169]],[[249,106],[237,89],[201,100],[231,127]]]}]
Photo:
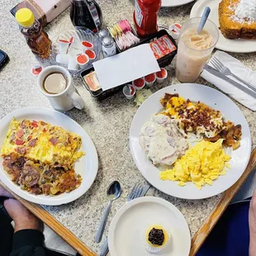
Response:
[{"label": "brown wooden edging of the speckled table, both left and right stretches", "polygon": [[[224,196],[220,198],[220,201],[217,202],[216,206],[211,211],[211,214],[206,217],[200,229],[197,230],[197,233],[192,237],[192,247],[190,251],[190,256],[197,254],[198,249],[200,249],[201,244],[205,241],[206,237],[210,234],[213,227],[216,225],[217,221],[220,219],[220,216],[224,213],[226,207],[230,204],[230,201],[235,197],[235,194],[239,191],[239,187],[245,182],[246,178],[249,177],[249,174],[253,171],[256,166],[256,148],[253,150],[249,164],[245,169],[243,175],[239,180],[230,187]],[[73,249],[75,249],[78,254],[84,256],[97,256],[92,249],[89,249],[87,245],[78,239],[70,230],[68,230],[64,225],[62,225],[54,216],[51,216],[48,211],[45,211],[40,205],[26,201],[21,197],[18,197],[12,191],[10,191],[1,181],[0,185],[7,189],[8,192],[12,194],[18,201],[21,202],[28,210],[30,210],[35,216],[42,220],[46,225],[50,227],[51,230],[54,230],[64,241],[66,241]]]}]

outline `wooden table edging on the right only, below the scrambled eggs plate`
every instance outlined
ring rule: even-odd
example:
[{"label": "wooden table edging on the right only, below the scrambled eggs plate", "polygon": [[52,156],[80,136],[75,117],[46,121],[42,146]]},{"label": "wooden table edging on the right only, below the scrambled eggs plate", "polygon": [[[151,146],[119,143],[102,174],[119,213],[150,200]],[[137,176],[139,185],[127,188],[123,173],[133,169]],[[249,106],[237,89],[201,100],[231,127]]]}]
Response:
[{"label": "wooden table edging on the right only, below the scrambled eggs plate", "polygon": [[216,206],[212,209],[211,214],[206,217],[206,220],[203,222],[200,229],[197,230],[197,233],[192,237],[192,246],[189,256],[194,256],[195,254],[197,254],[197,251],[200,249],[201,244],[203,244],[206,237],[210,234],[211,230],[220,219],[220,216],[224,213],[226,207],[229,206],[230,201],[235,197],[235,194],[239,191],[239,188],[243,185],[246,178],[249,177],[249,174],[254,170],[255,166],[256,148],[250,155],[249,163],[245,168],[243,175],[232,187],[224,192],[223,197],[221,197],[220,201],[216,203]]}]

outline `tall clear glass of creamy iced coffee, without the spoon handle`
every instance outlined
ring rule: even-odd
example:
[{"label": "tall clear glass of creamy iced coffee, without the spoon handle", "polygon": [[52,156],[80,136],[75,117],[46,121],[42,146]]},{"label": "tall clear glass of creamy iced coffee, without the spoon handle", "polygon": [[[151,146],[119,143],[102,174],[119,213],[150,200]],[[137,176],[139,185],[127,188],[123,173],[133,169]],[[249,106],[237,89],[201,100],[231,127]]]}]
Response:
[{"label": "tall clear glass of creamy iced coffee, without the spoon handle", "polygon": [[203,30],[198,34],[197,27],[200,21],[201,17],[187,20],[179,36],[176,77],[183,83],[197,80],[219,40],[219,30],[210,20],[206,21]]}]

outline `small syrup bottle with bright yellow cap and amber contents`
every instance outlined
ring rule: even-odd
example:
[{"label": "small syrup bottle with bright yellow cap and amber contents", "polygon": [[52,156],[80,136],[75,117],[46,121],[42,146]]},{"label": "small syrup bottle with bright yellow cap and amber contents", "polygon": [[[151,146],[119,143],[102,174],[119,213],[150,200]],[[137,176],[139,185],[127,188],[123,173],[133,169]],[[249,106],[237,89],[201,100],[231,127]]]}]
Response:
[{"label": "small syrup bottle with bright yellow cap and amber contents", "polygon": [[32,52],[42,59],[49,59],[51,53],[51,40],[43,31],[43,28],[34,14],[28,8],[17,11],[16,20],[20,25],[20,31],[26,38],[27,45]]}]

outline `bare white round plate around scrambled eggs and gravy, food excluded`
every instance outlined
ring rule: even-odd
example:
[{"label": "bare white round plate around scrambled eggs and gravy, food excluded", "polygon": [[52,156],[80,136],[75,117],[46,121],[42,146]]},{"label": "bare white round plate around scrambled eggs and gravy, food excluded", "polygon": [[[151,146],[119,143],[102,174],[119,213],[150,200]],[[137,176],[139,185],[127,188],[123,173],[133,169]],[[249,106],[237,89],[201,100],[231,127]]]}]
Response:
[{"label": "bare white round plate around scrambled eggs and gravy, food excluded", "polygon": [[[159,177],[160,170],[148,158],[144,149],[140,146],[141,128],[152,116],[163,111],[163,106],[159,102],[164,97],[164,93],[178,93],[180,97],[190,99],[192,102],[203,102],[213,110],[220,111],[225,121],[232,121],[239,124],[242,136],[239,141],[239,148],[229,150],[229,167],[225,175],[213,181],[212,185],[204,185],[201,189],[192,182],[186,182],[185,186],[178,186],[178,182],[162,180]],[[195,83],[182,83],[163,88],[150,96],[138,109],[130,126],[130,151],[137,168],[145,179],[154,187],[166,194],[184,199],[202,199],[213,197],[231,187],[244,173],[249,162],[251,153],[251,135],[249,126],[239,107],[223,93],[209,88],[205,85]]]}]

